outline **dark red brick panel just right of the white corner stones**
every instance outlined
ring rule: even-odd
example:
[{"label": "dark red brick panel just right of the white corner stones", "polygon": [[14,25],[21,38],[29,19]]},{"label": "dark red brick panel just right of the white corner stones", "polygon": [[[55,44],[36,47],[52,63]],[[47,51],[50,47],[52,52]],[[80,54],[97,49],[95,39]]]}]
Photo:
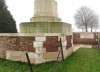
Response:
[{"label": "dark red brick panel just right of the white corner stones", "polygon": [[46,48],[46,52],[57,52],[59,46],[58,36],[47,36],[46,41],[43,42],[43,47]]}]

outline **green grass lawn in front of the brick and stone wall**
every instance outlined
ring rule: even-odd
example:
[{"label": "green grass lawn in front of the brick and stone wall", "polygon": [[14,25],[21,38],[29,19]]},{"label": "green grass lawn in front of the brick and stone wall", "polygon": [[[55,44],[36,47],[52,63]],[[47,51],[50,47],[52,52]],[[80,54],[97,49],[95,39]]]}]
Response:
[{"label": "green grass lawn in front of the brick and stone wall", "polygon": [[[80,48],[65,61],[32,65],[34,72],[100,72],[100,50]],[[51,71],[55,68],[55,71]],[[30,72],[28,64],[0,59],[0,72]]]}]

